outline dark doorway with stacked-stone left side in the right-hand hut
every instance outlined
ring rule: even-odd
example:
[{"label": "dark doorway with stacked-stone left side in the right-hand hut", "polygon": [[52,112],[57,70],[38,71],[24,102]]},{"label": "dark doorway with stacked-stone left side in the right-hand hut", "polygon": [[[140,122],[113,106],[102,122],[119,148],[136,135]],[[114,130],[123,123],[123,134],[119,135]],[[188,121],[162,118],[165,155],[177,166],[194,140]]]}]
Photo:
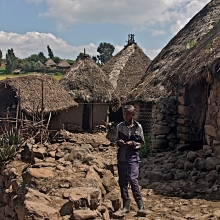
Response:
[{"label": "dark doorway with stacked-stone left side in the right-hand hut", "polygon": [[[201,147],[205,123],[207,86],[204,82],[183,87],[178,96],[177,137],[189,148]],[[190,144],[190,145],[189,145]]]}]

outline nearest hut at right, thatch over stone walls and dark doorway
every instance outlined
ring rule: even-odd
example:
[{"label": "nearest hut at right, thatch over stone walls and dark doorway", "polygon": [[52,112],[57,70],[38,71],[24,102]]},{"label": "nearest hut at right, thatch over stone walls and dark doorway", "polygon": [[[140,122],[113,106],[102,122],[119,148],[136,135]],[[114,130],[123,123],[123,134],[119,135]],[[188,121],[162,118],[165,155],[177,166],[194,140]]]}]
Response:
[{"label": "nearest hut at right, thatch over stone walls and dark doorway", "polygon": [[219,22],[172,69],[164,84],[178,98],[177,138],[220,155]]}]

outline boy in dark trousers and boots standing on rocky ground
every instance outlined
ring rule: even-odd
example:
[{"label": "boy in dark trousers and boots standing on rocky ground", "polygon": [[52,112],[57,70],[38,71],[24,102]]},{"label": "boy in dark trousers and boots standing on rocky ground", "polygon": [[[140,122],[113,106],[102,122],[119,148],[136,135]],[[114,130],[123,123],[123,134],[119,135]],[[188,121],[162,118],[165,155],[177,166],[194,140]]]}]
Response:
[{"label": "boy in dark trousers and boots standing on rocky ground", "polygon": [[128,182],[134,199],[138,205],[138,216],[146,216],[139,185],[139,151],[144,144],[142,126],[134,121],[134,106],[125,105],[123,107],[124,121],[117,125],[116,143],[118,148],[118,175],[121,197],[123,200],[122,213],[130,211],[130,199],[128,195]]}]

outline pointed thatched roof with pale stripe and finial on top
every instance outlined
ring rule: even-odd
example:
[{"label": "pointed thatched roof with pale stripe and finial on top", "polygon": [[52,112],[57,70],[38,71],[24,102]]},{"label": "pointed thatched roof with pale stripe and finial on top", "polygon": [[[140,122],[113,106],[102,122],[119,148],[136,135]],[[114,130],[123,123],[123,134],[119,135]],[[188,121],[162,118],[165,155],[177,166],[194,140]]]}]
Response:
[{"label": "pointed thatched roof with pale stripe and finial on top", "polygon": [[109,76],[120,97],[126,97],[145,74],[150,62],[141,48],[136,43],[132,43],[112,57],[102,70]]}]

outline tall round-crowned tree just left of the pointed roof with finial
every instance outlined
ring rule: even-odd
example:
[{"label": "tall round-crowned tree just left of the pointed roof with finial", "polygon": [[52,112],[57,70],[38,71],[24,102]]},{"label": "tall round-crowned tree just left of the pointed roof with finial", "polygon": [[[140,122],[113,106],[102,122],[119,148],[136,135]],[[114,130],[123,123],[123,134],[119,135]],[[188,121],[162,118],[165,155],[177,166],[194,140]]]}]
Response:
[{"label": "tall round-crowned tree just left of the pointed roof with finial", "polygon": [[102,65],[104,65],[111,59],[114,50],[115,47],[110,43],[104,42],[99,44],[97,52],[99,52],[100,55],[97,55],[97,58],[99,59]]}]

